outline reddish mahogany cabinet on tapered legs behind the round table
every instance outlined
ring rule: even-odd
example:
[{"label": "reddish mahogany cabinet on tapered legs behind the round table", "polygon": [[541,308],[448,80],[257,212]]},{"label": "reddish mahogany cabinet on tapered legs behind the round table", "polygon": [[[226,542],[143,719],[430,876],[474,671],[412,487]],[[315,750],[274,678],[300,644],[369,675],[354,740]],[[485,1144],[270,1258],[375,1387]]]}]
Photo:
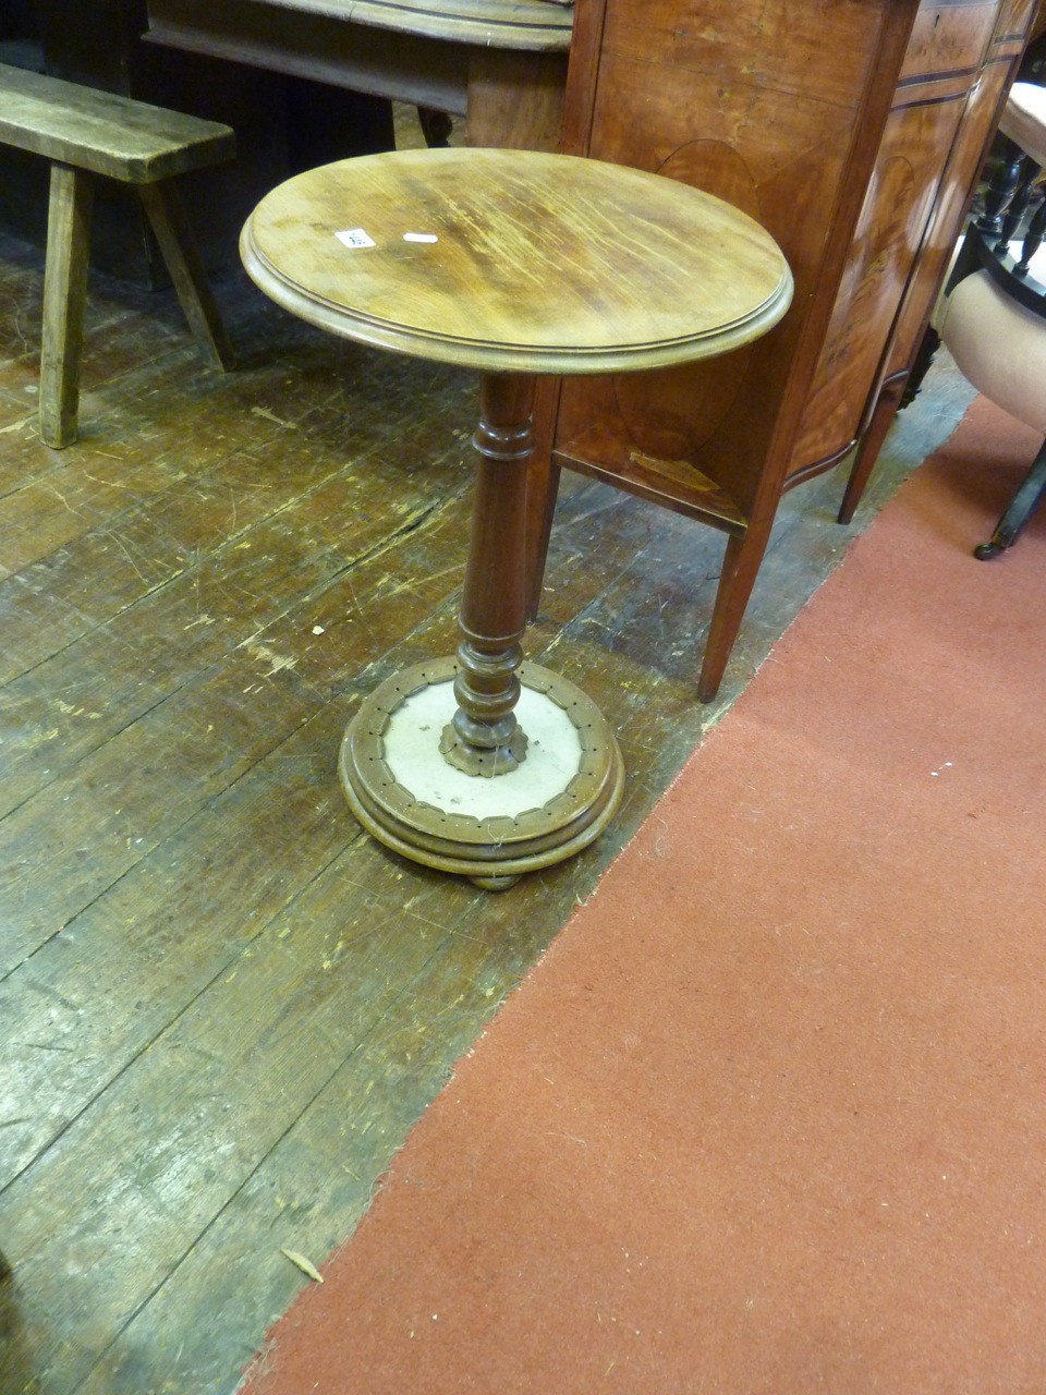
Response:
[{"label": "reddish mahogany cabinet on tapered legs behind the round table", "polygon": [[743,208],[784,250],[795,300],[724,359],[541,385],[534,608],[562,467],[721,529],[699,682],[715,695],[781,495],[891,420],[1035,8],[579,0],[563,148]]}]

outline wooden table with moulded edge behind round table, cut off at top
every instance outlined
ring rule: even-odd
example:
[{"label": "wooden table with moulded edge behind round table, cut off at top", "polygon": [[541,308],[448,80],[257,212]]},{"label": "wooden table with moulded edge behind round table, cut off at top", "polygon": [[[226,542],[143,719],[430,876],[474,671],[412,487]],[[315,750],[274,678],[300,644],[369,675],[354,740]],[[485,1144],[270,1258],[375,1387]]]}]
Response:
[{"label": "wooden table with moulded edge behind round table, cut off at top", "polygon": [[146,0],[151,43],[466,117],[470,145],[559,145],[561,0]]}]

